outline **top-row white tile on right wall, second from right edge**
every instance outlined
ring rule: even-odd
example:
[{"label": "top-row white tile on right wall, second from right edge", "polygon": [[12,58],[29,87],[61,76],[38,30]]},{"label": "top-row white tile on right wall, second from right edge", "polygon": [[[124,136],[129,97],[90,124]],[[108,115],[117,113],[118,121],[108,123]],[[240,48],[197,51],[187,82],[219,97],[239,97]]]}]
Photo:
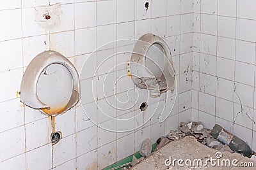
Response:
[{"label": "top-row white tile on right wall, second from right edge", "polygon": [[236,0],[219,0],[218,14],[227,17],[236,17]]}]

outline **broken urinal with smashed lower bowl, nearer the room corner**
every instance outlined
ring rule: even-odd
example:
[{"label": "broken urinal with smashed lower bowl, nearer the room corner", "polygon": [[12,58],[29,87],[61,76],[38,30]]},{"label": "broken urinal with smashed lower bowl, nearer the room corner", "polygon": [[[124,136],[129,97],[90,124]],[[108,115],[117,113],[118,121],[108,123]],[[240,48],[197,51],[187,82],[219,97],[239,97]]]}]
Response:
[{"label": "broken urinal with smashed lower bowl, nearer the room corner", "polygon": [[145,34],[134,46],[128,68],[134,84],[159,97],[175,89],[175,70],[168,45],[154,34]]}]

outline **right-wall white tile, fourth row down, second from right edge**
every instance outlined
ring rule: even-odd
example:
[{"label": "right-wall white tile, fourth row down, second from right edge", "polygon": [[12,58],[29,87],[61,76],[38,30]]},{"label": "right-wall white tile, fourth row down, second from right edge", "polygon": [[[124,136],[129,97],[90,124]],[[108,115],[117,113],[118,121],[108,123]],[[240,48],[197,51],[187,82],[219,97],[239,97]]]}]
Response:
[{"label": "right-wall white tile, fourth row down, second from right edge", "polygon": [[221,78],[226,78],[228,80],[234,80],[235,77],[235,61],[223,59],[217,57],[217,72],[216,75]]}]

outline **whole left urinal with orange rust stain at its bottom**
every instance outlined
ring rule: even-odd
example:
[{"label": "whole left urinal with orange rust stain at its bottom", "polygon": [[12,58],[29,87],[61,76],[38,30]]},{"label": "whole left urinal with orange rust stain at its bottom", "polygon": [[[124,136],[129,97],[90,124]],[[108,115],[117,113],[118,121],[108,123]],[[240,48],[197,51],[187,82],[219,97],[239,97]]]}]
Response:
[{"label": "whole left urinal with orange rust stain at its bottom", "polygon": [[31,60],[20,85],[22,103],[55,116],[70,110],[79,98],[79,75],[66,57],[50,50]]}]

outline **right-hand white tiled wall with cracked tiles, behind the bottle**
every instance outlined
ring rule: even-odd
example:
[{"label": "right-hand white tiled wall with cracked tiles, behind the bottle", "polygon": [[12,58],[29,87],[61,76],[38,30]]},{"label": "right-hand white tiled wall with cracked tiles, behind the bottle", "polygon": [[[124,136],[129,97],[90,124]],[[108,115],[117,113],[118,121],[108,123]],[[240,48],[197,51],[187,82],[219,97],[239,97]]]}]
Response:
[{"label": "right-hand white tiled wall with cracked tiles, behind the bottle", "polygon": [[256,150],[256,1],[194,3],[192,118],[220,124]]}]

